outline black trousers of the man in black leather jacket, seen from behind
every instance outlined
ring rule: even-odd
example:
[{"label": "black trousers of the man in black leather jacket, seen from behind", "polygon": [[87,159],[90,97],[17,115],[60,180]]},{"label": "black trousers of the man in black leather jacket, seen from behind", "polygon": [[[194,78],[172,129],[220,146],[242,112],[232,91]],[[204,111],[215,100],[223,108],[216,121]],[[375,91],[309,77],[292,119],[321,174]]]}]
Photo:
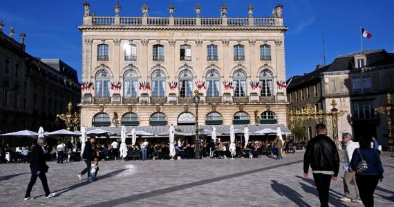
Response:
[{"label": "black trousers of the man in black leather jacket, seen from behind", "polygon": [[320,206],[328,207],[328,191],[330,190],[332,175],[313,173],[313,179],[319,193]]}]

